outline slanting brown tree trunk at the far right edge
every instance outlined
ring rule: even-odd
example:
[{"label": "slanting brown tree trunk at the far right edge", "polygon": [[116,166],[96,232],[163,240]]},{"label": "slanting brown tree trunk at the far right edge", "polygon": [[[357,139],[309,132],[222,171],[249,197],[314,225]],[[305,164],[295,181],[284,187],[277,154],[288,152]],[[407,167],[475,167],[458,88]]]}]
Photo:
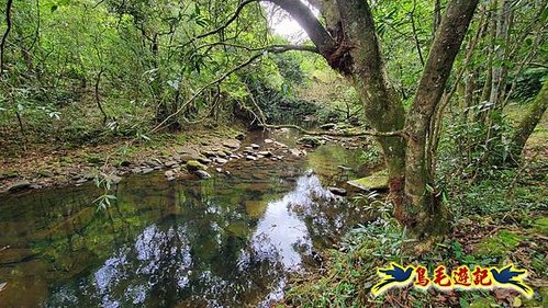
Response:
[{"label": "slanting brown tree trunk at the far right edge", "polygon": [[533,130],[535,130],[535,127],[540,122],[540,118],[543,118],[543,115],[545,114],[547,107],[548,80],[545,81],[545,84],[535,98],[529,112],[527,113],[525,118],[522,119],[514,133],[514,136],[512,137],[512,158],[515,161],[519,160],[527,139],[529,138],[530,134],[533,134]]}]

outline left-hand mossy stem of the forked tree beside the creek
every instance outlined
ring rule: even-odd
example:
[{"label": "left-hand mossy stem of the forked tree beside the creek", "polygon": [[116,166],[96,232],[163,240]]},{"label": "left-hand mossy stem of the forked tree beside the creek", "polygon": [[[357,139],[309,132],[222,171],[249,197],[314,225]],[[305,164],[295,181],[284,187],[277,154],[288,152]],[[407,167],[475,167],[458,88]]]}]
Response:
[{"label": "left-hand mossy stem of the forked tree beside the creek", "polygon": [[[379,42],[374,32],[373,18],[367,1],[338,1],[340,26],[344,30],[342,46],[349,49],[349,71],[361,102],[367,122],[378,132],[395,132],[403,128],[405,112],[403,104],[388,79]],[[405,178],[405,140],[402,137],[377,137],[384,153],[389,174],[391,197],[395,216],[402,216],[403,180]]]}]

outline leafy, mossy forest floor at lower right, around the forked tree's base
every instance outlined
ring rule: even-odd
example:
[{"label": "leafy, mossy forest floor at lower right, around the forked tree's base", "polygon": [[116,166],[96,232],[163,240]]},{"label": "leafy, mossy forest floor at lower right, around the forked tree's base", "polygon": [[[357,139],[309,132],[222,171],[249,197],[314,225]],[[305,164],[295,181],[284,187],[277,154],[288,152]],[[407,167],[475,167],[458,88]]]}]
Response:
[{"label": "leafy, mossy forest floor at lower right, around the forked tree's base", "polygon": [[[517,123],[524,111],[507,111]],[[389,214],[353,229],[336,249],[323,254],[324,263],[291,278],[281,307],[548,307],[548,115],[527,141],[518,168],[496,170],[473,184],[455,180],[457,194],[446,201],[452,231],[428,251]],[[460,185],[460,186],[459,186]],[[367,198],[367,197],[364,197]],[[367,203],[366,203],[367,204]],[[373,206],[373,204],[370,204]],[[437,265],[483,267],[515,264],[527,270],[525,283],[535,292],[528,298],[508,288],[422,290],[412,285],[374,297],[377,270],[390,262],[423,265],[430,275]]]}]

